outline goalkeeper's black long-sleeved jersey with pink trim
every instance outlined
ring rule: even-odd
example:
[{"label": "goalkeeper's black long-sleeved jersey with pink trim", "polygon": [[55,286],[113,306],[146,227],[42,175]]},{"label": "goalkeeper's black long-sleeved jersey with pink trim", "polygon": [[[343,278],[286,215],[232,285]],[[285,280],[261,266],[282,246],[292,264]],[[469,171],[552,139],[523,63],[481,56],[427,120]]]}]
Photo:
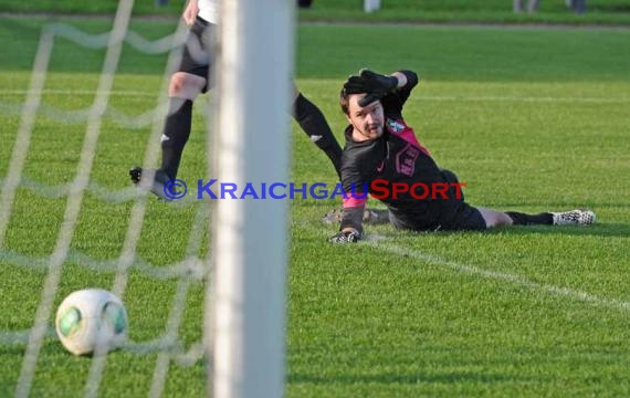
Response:
[{"label": "goalkeeper's black long-sleeved jersey with pink trim", "polygon": [[[452,196],[449,199],[428,195],[426,199],[413,198],[410,192],[392,197],[392,184],[402,182],[412,186],[423,182],[431,186],[434,182],[447,182],[429,150],[417,139],[416,133],[402,118],[402,105],[411,90],[418,83],[413,72],[403,72],[408,84],[388,94],[381,100],[385,111],[385,128],[381,137],[357,143],[353,140],[353,126],[345,130],[346,147],[342,159],[342,184],[348,192],[349,200],[344,207],[357,207],[365,200],[356,200],[367,187],[368,192],[379,198],[389,210],[401,220],[411,222],[416,228],[423,229],[437,224],[439,219],[451,216],[455,205]],[[381,189],[375,190],[376,184],[389,187],[389,195]],[[353,193],[354,192],[354,193]],[[384,197],[385,196],[385,197]]]}]

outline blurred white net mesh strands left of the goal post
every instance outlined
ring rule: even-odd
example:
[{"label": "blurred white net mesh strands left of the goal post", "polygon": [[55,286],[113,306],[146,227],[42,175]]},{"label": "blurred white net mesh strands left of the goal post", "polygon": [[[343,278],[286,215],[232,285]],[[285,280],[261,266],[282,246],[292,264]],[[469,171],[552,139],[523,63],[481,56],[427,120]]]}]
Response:
[{"label": "blurred white net mesh strands left of the goal post", "polygon": [[[113,28],[106,33],[91,34],[69,24],[48,24],[41,31],[36,55],[30,77],[30,85],[25,93],[23,104],[0,101],[0,115],[18,116],[19,126],[12,136],[13,147],[8,159],[7,171],[1,181],[0,197],[0,262],[6,272],[27,270],[28,272],[43,273],[43,286],[33,294],[36,298],[36,310],[32,325],[24,329],[0,328],[0,345],[23,346],[19,378],[14,388],[17,397],[27,397],[31,394],[36,375],[38,362],[42,347],[46,341],[55,339],[54,318],[55,302],[60,302],[60,286],[62,275],[69,264],[78,265],[90,273],[111,275],[112,283],[102,286],[125,300],[129,277],[140,275],[156,281],[169,281],[175,286],[175,294],[170,300],[170,308],[166,317],[166,325],[161,335],[148,341],[133,341],[125,344],[122,349],[138,355],[156,354],[155,368],[149,387],[150,396],[160,396],[165,388],[165,380],[171,364],[191,366],[203,358],[204,349],[201,339],[185,343],[179,335],[182,324],[187,297],[191,286],[204,283],[210,275],[208,255],[203,254],[204,239],[209,224],[209,207],[202,201],[180,200],[172,207],[191,207],[192,217],[190,228],[185,239],[186,248],[176,261],[167,264],[156,264],[144,259],[140,254],[143,227],[145,226],[149,200],[154,200],[146,189],[127,186],[125,188],[111,188],[93,178],[93,170],[98,167],[97,147],[103,136],[104,124],[117,125],[127,129],[149,128],[145,145],[144,165],[155,165],[159,155],[159,135],[164,127],[167,112],[167,84],[170,72],[181,57],[181,44],[187,29],[180,24],[174,34],[147,40],[129,29],[133,1],[119,1],[114,18]],[[103,50],[105,52],[98,83],[94,91],[72,91],[73,95],[93,95],[92,103],[80,109],[63,109],[56,104],[45,103],[46,94],[63,94],[46,88],[46,78],[51,62],[55,54],[55,44],[69,41],[85,49]],[[130,46],[144,54],[168,54],[168,62],[162,76],[157,105],[139,114],[129,115],[124,109],[114,107],[111,103],[113,95],[129,97],[147,96],[144,91],[125,91],[117,93],[114,90],[117,70],[122,62],[123,49]],[[14,94],[20,94],[15,92]],[[27,171],[29,161],[38,157],[38,148],[32,147],[32,137],[41,119],[50,119],[61,126],[85,125],[75,172],[71,179],[63,184],[51,184],[46,180],[29,178]],[[8,235],[13,223],[15,212],[20,210],[20,200],[23,195],[45,200],[63,200],[65,202],[63,216],[59,226],[50,228],[54,234],[54,244],[43,254],[34,250],[24,252],[14,250],[8,242]],[[120,237],[119,250],[114,259],[101,259],[90,251],[81,250],[77,244],[82,218],[88,218],[94,201],[120,206],[129,209],[126,231]],[[45,245],[45,244],[44,244]],[[87,286],[76,286],[83,289]],[[9,293],[7,293],[9,294]],[[4,295],[4,294],[3,294]],[[33,297],[35,300],[35,297]],[[202,317],[202,314],[199,314]],[[132,322],[133,325],[133,322]],[[10,326],[10,325],[9,325]],[[133,335],[132,331],[130,334]],[[85,380],[85,396],[97,396],[107,355],[96,352],[91,357],[90,370]]]}]

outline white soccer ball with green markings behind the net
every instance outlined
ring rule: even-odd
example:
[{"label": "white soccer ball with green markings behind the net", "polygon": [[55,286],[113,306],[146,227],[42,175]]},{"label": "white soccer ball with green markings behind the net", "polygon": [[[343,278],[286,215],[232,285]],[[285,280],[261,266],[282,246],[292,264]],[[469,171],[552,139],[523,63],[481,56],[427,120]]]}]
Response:
[{"label": "white soccer ball with green markings behind the net", "polygon": [[74,355],[118,347],[127,338],[127,312],[123,301],[103,289],[71,293],[56,311],[55,329],[63,346]]}]

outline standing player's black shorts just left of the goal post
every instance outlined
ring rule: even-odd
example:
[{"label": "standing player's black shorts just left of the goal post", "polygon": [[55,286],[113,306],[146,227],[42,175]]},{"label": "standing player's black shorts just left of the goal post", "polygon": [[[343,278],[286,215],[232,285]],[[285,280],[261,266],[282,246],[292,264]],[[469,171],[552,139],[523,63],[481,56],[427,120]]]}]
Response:
[{"label": "standing player's black shorts just left of the goal post", "polygon": [[[214,24],[197,17],[186,38],[178,72],[186,72],[206,78],[210,76],[210,66],[214,57]],[[208,84],[202,93],[208,91]]]}]

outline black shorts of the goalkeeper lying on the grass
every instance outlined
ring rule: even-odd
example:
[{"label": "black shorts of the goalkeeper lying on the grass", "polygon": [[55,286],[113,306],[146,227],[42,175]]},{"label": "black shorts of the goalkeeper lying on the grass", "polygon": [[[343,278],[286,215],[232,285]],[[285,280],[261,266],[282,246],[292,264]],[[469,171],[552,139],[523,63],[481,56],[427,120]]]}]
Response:
[{"label": "black shorts of the goalkeeper lying on the grass", "polygon": [[[459,182],[458,177],[450,170],[442,170],[445,182]],[[449,190],[449,197],[452,200],[434,201],[430,206],[431,216],[437,216],[434,221],[424,223],[413,218],[398,216],[396,212],[389,212],[389,220],[397,229],[406,229],[413,231],[484,231],[487,229],[485,220],[481,212],[464,201],[461,193],[456,199],[454,188]],[[433,218],[433,217],[427,217]],[[426,219],[426,218],[422,218]]]}]

